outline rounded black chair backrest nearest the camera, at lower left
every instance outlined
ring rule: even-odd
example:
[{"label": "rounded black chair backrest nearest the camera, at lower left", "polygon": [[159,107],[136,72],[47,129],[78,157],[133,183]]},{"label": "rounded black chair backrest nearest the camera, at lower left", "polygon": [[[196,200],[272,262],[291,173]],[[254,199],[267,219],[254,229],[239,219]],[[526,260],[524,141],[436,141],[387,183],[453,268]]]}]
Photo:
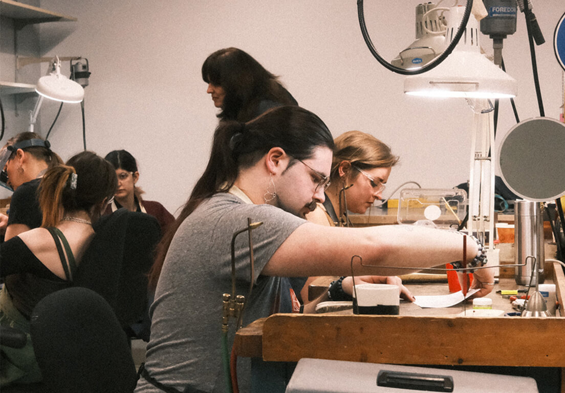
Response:
[{"label": "rounded black chair backrest nearest the camera, at lower left", "polygon": [[112,308],[88,288],[44,297],[33,309],[31,338],[53,392],[133,392],[131,348]]}]

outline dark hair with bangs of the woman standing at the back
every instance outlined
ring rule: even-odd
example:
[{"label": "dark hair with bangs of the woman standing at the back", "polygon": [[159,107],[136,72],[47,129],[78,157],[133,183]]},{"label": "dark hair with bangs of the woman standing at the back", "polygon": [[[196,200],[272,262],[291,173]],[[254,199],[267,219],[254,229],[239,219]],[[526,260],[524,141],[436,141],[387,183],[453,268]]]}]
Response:
[{"label": "dark hair with bangs of the woman standing at the back", "polygon": [[225,91],[218,117],[247,122],[260,115],[259,103],[297,105],[292,95],[257,60],[236,47],[212,53],[202,64],[202,79]]}]

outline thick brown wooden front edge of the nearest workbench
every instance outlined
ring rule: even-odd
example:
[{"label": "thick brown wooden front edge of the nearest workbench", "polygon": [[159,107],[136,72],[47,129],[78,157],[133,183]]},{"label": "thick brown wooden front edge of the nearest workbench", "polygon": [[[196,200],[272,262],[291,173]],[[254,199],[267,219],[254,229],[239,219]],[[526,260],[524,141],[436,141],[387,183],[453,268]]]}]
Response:
[{"label": "thick brown wooden front edge of the nearest workbench", "polygon": [[[560,265],[555,264],[554,271],[563,310],[565,277]],[[495,291],[509,288],[512,281],[501,279],[489,296],[500,297]],[[266,361],[312,357],[392,364],[560,367],[565,379],[563,316],[459,317],[460,305],[420,309],[420,315],[415,315],[412,306],[419,309],[402,303],[399,316],[274,314],[240,329],[234,350],[238,356]]]}]

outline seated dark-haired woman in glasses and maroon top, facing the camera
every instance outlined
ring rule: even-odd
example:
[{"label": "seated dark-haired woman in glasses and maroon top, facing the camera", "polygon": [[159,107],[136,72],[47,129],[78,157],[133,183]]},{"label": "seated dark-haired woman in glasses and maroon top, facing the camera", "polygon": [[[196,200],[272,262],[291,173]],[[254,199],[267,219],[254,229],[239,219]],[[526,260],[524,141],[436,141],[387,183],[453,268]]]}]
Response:
[{"label": "seated dark-haired woman in glasses and maroon top, facing the camera", "polygon": [[175,221],[175,217],[159,202],[145,201],[141,198],[144,191],[136,185],[140,178],[136,159],[126,150],[112,150],[106,154],[105,159],[116,170],[118,189],[114,195],[114,201],[108,205],[104,214],[110,214],[119,208],[141,211],[157,218],[161,231],[165,231],[169,224]]}]

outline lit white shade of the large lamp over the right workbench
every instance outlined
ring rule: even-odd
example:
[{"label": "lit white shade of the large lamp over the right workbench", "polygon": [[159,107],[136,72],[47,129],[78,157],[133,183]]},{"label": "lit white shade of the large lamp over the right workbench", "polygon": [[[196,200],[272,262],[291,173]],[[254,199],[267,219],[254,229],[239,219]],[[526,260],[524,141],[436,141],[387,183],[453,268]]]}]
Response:
[{"label": "lit white shade of the large lamp over the right workbench", "polygon": [[[450,40],[463,18],[464,7],[451,7],[448,20]],[[510,98],[518,90],[516,80],[481,54],[479,23],[469,18],[466,31],[453,52],[431,71],[407,76],[404,92],[414,96]]]}]

